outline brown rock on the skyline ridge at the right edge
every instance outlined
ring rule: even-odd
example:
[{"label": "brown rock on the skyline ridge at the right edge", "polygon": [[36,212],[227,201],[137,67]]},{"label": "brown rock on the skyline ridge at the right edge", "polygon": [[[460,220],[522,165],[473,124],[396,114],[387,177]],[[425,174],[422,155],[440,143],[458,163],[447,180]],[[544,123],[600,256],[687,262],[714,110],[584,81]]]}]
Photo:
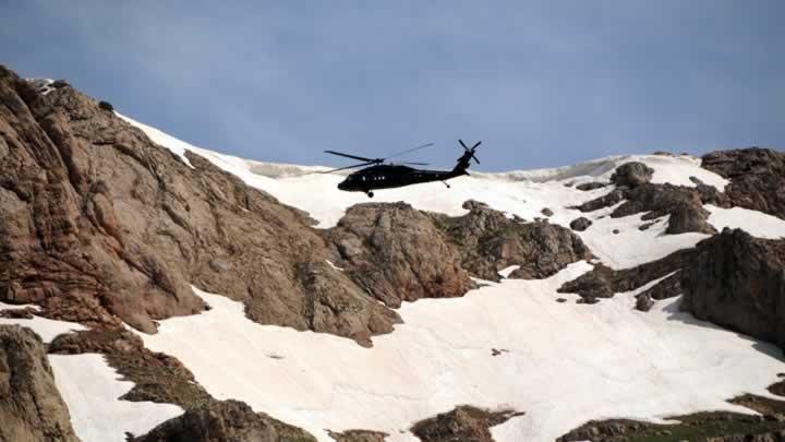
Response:
[{"label": "brown rock on the skyline ridge at the right edge", "polygon": [[725,188],[729,205],[785,219],[785,153],[758,147],[712,152],[701,166],[730,180]]}]

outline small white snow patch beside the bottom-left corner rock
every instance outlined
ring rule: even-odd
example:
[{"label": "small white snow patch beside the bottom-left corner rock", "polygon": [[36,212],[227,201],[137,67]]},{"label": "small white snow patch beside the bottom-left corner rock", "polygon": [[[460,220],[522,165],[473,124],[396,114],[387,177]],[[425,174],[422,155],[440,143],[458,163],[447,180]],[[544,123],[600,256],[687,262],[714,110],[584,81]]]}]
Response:
[{"label": "small white snow patch beside the bottom-left corner rock", "polygon": [[183,413],[171,404],[120,401],[134,384],[120,381],[101,355],[49,355],[49,363],[83,442],[124,442],[125,431],[142,435]]}]

